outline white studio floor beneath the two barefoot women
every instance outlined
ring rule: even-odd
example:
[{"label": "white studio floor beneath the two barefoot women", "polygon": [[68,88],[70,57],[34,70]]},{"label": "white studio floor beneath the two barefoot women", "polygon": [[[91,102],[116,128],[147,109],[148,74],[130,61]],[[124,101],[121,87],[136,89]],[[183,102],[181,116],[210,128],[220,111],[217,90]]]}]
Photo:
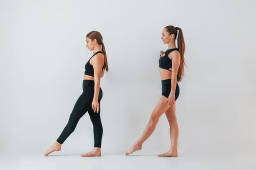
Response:
[{"label": "white studio floor beneath the two barefoot women", "polygon": [[0,170],[256,170],[256,154],[207,155],[180,153],[179,157],[156,154],[103,154],[80,157],[80,153],[13,155],[1,157]]}]

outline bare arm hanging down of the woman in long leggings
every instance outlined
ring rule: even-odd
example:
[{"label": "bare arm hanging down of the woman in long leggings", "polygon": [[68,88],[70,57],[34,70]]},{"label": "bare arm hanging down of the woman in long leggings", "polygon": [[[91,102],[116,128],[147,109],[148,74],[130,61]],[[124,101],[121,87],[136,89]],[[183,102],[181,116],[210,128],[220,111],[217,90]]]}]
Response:
[{"label": "bare arm hanging down of the woman in long leggings", "polygon": [[102,75],[102,67],[104,64],[104,56],[103,54],[97,54],[95,57],[92,58],[92,64],[94,69],[94,96],[92,107],[94,112],[99,111],[99,103],[98,103],[98,93],[100,87],[100,77]]}]

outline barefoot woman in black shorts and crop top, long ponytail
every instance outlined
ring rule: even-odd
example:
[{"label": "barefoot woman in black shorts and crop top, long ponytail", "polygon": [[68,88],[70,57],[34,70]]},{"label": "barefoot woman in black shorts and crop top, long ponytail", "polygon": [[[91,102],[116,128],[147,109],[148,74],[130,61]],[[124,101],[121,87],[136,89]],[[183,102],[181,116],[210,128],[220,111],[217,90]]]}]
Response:
[{"label": "barefoot woman in black shorts and crop top, long ponytail", "polygon": [[[176,38],[178,48],[176,48],[175,44]],[[164,44],[168,45],[165,52],[160,51],[159,58],[162,96],[153,110],[144,132],[133,144],[133,146],[125,153],[125,155],[129,155],[135,151],[141,150],[142,144],[154,132],[158,119],[163,113],[165,113],[170,124],[171,147],[168,152],[159,154],[158,156],[178,156],[178,124],[176,118],[175,101],[179,95],[179,87],[177,82],[181,81],[184,71],[185,43],[181,29],[171,25],[166,26],[163,29],[161,39]]]}]

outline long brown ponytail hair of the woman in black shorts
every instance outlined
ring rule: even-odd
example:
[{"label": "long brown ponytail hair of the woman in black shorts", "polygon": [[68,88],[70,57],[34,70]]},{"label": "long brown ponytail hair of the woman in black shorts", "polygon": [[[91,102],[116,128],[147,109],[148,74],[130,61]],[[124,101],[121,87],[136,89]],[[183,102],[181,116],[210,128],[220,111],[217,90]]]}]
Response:
[{"label": "long brown ponytail hair of the woman in black shorts", "polygon": [[[175,27],[172,25],[168,25],[165,28],[170,35],[174,34],[175,39],[177,38],[178,51],[180,54],[180,64],[179,64],[178,73],[177,73],[177,81],[180,82],[184,74],[184,65],[186,66],[185,59],[184,59],[185,42],[184,42],[183,33],[181,28]],[[178,34],[178,37],[177,37],[177,34]]]}]

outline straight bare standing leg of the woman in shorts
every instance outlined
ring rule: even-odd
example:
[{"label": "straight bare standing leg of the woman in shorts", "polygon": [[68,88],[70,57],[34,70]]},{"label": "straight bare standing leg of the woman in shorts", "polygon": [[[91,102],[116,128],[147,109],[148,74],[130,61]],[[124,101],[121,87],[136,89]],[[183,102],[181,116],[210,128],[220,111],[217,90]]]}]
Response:
[{"label": "straight bare standing leg of the woman in shorts", "polygon": [[172,105],[166,112],[165,115],[170,124],[170,138],[171,138],[171,148],[168,152],[158,154],[158,156],[171,156],[177,157],[177,147],[178,147],[178,123],[176,118],[176,106]]}]

